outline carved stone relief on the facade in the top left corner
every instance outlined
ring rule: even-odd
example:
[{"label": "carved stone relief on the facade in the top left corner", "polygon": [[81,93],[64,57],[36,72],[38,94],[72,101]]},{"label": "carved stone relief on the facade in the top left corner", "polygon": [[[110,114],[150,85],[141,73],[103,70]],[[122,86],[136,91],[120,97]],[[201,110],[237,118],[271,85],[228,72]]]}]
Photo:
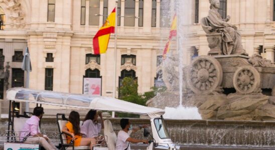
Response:
[{"label": "carved stone relief on the facade in the top left corner", "polygon": [[8,16],[11,19],[11,27],[23,28],[26,26],[23,21],[25,13],[21,6],[21,0],[0,0],[0,2],[5,3],[6,8],[9,10]]}]

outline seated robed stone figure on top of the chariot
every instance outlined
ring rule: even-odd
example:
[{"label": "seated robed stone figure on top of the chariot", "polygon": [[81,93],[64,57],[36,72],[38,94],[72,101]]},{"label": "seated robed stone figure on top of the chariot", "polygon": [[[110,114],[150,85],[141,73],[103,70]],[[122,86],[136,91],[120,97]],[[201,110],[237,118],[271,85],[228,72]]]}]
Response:
[{"label": "seated robed stone figure on top of the chariot", "polygon": [[245,54],[245,50],[241,44],[241,35],[237,30],[237,27],[233,24],[227,23],[230,19],[230,16],[227,16],[226,19],[222,19],[221,15],[218,12],[220,6],[219,0],[209,0],[210,1],[210,10],[208,16],[206,17],[209,31],[217,31],[222,33],[222,48],[223,54]]}]

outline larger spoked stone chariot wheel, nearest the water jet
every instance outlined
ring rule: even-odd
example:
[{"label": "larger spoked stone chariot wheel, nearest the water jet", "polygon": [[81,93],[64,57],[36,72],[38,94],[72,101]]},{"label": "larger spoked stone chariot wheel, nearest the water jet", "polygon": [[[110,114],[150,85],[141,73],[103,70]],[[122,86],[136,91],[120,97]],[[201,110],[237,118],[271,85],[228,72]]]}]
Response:
[{"label": "larger spoked stone chariot wheel, nearest the water jet", "polygon": [[189,88],[197,94],[208,94],[222,82],[222,67],[217,59],[208,55],[195,58],[187,72]]}]

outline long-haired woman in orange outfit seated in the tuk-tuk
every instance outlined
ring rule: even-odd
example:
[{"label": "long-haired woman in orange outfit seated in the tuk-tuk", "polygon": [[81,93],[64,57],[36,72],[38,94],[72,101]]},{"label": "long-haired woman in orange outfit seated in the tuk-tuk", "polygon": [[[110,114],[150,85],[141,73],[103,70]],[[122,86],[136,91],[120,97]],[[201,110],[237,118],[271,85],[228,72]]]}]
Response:
[{"label": "long-haired woman in orange outfit seated in the tuk-tuk", "polygon": [[71,111],[69,115],[69,121],[66,125],[62,128],[62,132],[70,134],[71,136],[66,135],[67,143],[70,143],[72,140],[74,141],[74,146],[89,146],[93,147],[94,138],[85,138],[82,137],[80,133],[80,116],[79,113],[76,111]]}]

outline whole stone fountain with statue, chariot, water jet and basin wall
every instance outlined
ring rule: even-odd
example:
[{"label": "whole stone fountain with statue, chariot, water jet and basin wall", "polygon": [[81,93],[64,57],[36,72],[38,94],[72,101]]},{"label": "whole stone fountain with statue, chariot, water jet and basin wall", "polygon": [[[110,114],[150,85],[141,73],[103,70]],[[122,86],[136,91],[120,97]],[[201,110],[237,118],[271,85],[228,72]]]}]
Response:
[{"label": "whole stone fountain with statue, chariot, water jet and basin wall", "polygon": [[[176,5],[171,11],[189,14],[190,1],[171,1]],[[174,142],[270,148],[275,145],[275,122],[270,121],[275,120],[275,64],[259,54],[247,56],[237,27],[217,12],[219,0],[209,2],[209,15],[200,21],[208,55],[197,56],[189,65],[183,61],[189,15],[178,15],[177,50],[170,52],[161,68],[167,90],[147,104],[165,109],[164,117],[173,118],[167,124]]]}]

